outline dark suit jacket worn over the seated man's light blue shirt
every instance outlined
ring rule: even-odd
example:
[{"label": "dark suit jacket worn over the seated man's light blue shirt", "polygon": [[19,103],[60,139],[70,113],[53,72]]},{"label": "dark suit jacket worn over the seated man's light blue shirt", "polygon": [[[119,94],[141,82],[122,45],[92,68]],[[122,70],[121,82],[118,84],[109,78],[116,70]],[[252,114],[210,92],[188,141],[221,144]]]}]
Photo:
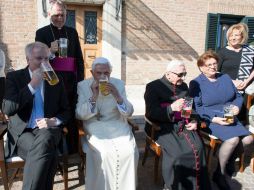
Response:
[{"label": "dark suit jacket worn over the seated man's light blue shirt", "polygon": [[[30,80],[28,67],[9,72],[6,77],[3,112],[9,117],[7,157],[12,156],[32,113],[34,95],[28,88]],[[63,82],[59,81],[54,86],[44,81],[44,117],[57,117],[65,124],[69,120],[69,105]]]}]

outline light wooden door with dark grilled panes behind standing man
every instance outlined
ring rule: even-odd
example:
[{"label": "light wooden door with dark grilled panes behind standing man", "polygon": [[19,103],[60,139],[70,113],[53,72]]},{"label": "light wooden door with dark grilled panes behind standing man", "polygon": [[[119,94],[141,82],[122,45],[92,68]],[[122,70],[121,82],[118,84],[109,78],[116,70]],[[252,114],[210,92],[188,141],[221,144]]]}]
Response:
[{"label": "light wooden door with dark grilled panes behind standing man", "polygon": [[91,77],[92,62],[101,56],[102,7],[67,4],[66,25],[76,28],[84,58],[84,76]]}]

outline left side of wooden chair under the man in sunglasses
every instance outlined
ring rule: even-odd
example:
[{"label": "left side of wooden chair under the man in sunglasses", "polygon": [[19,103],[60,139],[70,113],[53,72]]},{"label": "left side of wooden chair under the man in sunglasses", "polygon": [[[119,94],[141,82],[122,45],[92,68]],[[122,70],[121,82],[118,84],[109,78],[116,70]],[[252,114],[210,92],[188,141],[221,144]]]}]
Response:
[{"label": "left side of wooden chair under the man in sunglasses", "polygon": [[154,183],[158,183],[159,160],[162,155],[162,150],[160,145],[157,142],[155,142],[154,135],[156,131],[160,130],[160,127],[157,124],[151,122],[146,117],[145,117],[145,122],[151,126],[151,136],[148,136],[146,134],[146,145],[145,145],[144,157],[142,160],[142,166],[145,165],[148,152],[152,151],[154,153]]}]

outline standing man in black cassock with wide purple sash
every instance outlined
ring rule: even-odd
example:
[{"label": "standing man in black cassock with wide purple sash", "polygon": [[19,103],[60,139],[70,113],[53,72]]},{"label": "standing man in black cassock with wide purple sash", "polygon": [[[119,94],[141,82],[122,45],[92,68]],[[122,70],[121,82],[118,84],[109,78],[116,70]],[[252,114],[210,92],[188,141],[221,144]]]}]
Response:
[{"label": "standing man in black cassock with wide purple sash", "polygon": [[[84,79],[84,61],[75,29],[64,26],[66,22],[66,6],[60,0],[53,1],[49,10],[51,24],[36,31],[35,41],[48,45],[51,51],[51,65],[57,75],[64,79],[65,89],[71,106],[71,120],[68,125],[69,152],[76,152],[78,130],[75,125],[75,106],[77,102],[77,82]],[[67,57],[59,57],[59,39],[68,41]]]}]

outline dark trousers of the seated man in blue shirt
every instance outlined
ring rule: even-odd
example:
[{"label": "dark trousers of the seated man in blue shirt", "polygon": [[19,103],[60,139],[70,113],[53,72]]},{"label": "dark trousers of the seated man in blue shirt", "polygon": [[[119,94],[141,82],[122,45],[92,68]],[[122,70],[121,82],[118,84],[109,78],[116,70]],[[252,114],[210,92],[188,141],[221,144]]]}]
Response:
[{"label": "dark trousers of the seated man in blue shirt", "polygon": [[62,129],[25,129],[16,151],[25,160],[23,190],[52,190]]}]

